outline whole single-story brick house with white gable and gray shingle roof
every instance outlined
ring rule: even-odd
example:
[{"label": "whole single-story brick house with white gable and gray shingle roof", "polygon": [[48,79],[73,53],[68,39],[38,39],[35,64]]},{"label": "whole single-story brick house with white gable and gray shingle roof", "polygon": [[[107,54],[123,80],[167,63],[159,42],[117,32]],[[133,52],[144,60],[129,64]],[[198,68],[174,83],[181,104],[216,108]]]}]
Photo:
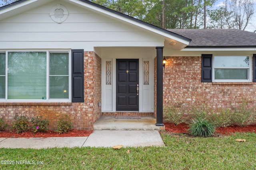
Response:
[{"label": "whole single-story brick house with white gable and gray shingle roof", "polygon": [[92,130],[101,115],[162,125],[168,104],[254,105],[254,54],[247,31],[165,30],[87,0],[19,0],[0,8],[0,115],[41,115],[49,129],[68,115]]}]

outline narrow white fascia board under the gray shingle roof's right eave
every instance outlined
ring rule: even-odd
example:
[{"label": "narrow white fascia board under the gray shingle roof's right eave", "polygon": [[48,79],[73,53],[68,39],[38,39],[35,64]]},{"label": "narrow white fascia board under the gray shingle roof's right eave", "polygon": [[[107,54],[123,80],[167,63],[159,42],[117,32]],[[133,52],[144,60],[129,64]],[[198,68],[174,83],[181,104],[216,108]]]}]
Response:
[{"label": "narrow white fascia board under the gray shingle roof's right eave", "polygon": [[256,51],[256,48],[184,48],[181,51]]}]

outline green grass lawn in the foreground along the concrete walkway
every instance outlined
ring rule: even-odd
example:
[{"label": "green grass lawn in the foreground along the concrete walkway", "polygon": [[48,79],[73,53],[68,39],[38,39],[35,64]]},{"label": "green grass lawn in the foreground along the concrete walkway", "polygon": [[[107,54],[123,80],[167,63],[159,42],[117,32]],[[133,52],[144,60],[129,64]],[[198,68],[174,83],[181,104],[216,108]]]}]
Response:
[{"label": "green grass lawn in the foreground along the concrete walkway", "polygon": [[166,134],[162,138],[166,147],[0,149],[0,160],[14,161],[0,164],[0,169],[256,169],[256,133],[207,138]]}]

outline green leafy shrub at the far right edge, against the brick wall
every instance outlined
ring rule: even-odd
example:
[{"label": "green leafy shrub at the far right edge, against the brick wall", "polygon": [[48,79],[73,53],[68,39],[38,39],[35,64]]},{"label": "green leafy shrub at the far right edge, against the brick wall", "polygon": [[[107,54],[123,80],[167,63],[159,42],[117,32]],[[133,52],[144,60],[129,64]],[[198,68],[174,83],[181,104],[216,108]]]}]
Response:
[{"label": "green leafy shrub at the far right edge, against the brick wall", "polygon": [[232,121],[240,127],[250,125],[256,121],[255,107],[249,108],[248,101],[245,99],[242,99],[242,103],[238,107],[232,106],[232,108],[234,109]]}]

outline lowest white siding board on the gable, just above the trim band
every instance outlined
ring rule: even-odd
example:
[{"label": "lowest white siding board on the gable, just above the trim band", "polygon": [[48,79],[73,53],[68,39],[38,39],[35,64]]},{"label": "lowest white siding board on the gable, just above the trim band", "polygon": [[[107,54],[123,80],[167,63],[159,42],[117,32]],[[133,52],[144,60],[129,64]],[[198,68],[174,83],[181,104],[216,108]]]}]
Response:
[{"label": "lowest white siding board on the gable, just above the trim band", "polygon": [[144,32],[5,32],[0,34],[0,41],[153,41],[146,35]]}]

